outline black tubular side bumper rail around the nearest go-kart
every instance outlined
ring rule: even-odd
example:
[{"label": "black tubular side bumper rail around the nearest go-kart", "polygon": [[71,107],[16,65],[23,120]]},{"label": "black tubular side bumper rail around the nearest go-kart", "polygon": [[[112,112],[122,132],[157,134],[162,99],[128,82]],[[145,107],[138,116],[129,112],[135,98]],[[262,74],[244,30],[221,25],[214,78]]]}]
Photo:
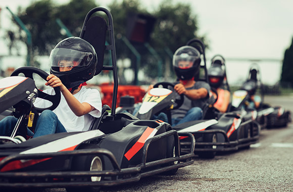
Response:
[{"label": "black tubular side bumper rail around the nearest go-kart", "polygon": [[[153,162],[146,163],[146,154],[148,153],[148,147],[151,142],[159,140],[163,137],[174,135],[175,138],[175,154],[176,157],[157,160]],[[141,176],[148,176],[153,175],[156,173],[161,173],[165,171],[169,171],[172,169],[176,169],[179,167],[183,167],[186,165],[190,165],[193,163],[192,157],[194,156],[194,144],[195,139],[194,136],[191,133],[180,133],[180,135],[189,136],[191,138],[190,142],[190,152],[188,154],[179,155],[179,139],[178,139],[178,132],[175,130],[171,130],[165,133],[162,133],[160,135],[154,136],[150,139],[148,139],[145,142],[145,145],[143,147],[143,155],[142,155],[142,161],[141,164],[136,167],[131,168],[123,168],[121,169],[118,165],[114,155],[112,152],[106,149],[94,149],[94,150],[74,150],[74,151],[66,151],[66,152],[57,152],[57,153],[40,153],[40,154],[18,154],[18,155],[11,155],[6,157],[0,162],[0,170],[6,166],[8,163],[16,161],[16,160],[29,160],[29,159],[44,159],[44,158],[53,158],[53,157],[60,157],[60,156],[81,156],[81,155],[105,155],[107,156],[110,161],[112,162],[112,165],[114,167],[114,170],[112,171],[58,171],[58,172],[0,172],[0,186],[3,187],[67,187],[67,186],[113,186],[123,183],[129,183],[138,181]],[[170,166],[161,167],[156,170],[151,171],[145,171],[143,172],[143,169],[145,168],[151,168],[158,165],[171,163],[174,161],[183,161],[189,159],[189,161],[178,163]],[[125,177],[118,178],[117,176],[124,175]],[[129,177],[129,175],[131,175]],[[102,180],[99,182],[92,182],[92,181],[53,181],[53,178],[74,178],[74,177],[82,177],[82,176],[111,176],[111,180]],[[128,176],[128,177],[127,177]],[[22,178],[23,181],[18,182],[5,182],[8,178]],[[46,181],[37,182],[35,180],[43,179]],[[51,178],[52,181],[50,181],[48,178]],[[26,179],[30,179],[31,182],[27,182]],[[3,182],[4,181],[4,182]]]}]

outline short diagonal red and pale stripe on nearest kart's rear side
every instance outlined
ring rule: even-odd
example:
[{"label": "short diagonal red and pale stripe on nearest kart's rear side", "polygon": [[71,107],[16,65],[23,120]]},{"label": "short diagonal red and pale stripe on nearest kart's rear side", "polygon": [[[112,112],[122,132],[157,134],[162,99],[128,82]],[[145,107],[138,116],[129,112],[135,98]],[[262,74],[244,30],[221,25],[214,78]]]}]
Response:
[{"label": "short diagonal red and pale stripe on nearest kart's rear side", "polygon": [[144,145],[146,139],[152,134],[155,129],[148,127],[139,137],[139,139],[134,143],[134,145],[126,152],[124,155],[129,161]]}]

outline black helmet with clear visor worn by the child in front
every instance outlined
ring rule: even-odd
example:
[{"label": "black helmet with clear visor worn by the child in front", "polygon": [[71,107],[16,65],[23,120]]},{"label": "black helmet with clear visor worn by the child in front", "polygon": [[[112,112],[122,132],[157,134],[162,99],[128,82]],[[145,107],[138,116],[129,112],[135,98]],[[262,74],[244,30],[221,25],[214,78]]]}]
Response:
[{"label": "black helmet with clear visor worn by the child in front", "polygon": [[[93,77],[97,57],[89,42],[79,37],[69,37],[52,50],[49,64],[50,73],[59,77],[67,88],[72,88]],[[60,70],[61,67],[69,67],[70,70]]]}]

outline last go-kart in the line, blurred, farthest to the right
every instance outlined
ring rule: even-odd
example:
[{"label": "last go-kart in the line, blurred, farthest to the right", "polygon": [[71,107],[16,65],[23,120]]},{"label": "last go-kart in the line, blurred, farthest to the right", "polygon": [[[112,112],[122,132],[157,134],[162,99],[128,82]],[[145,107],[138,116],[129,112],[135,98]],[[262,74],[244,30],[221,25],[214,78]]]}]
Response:
[{"label": "last go-kart in the line, blurred, farthest to the right", "polygon": [[[259,95],[261,102],[258,108],[252,108],[249,104],[252,96]],[[261,81],[259,66],[253,63],[249,70],[247,80],[239,90],[233,93],[232,108],[245,108],[247,111],[257,110],[257,121],[261,128],[285,127],[291,122],[291,112],[281,106],[272,107],[264,102],[265,90]]]}]

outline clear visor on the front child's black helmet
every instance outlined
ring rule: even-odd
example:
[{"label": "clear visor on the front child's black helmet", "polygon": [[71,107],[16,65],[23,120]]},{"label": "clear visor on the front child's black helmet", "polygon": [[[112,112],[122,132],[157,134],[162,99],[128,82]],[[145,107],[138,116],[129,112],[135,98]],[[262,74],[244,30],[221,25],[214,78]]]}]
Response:
[{"label": "clear visor on the front child's black helmet", "polygon": [[52,50],[49,58],[51,67],[59,67],[61,69],[74,67],[85,67],[89,65],[93,56],[91,53],[80,52],[76,50],[58,48]]}]

